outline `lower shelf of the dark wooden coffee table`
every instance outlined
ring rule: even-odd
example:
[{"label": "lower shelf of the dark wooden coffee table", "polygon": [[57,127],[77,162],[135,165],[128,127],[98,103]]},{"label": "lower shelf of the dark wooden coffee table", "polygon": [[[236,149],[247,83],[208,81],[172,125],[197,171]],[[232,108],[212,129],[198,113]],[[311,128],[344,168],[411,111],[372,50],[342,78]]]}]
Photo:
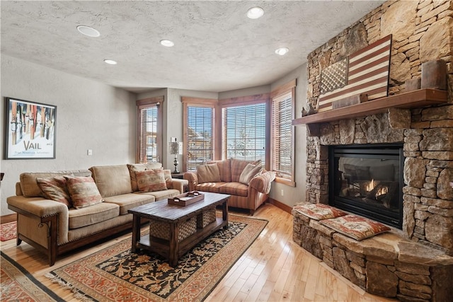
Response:
[{"label": "lower shelf of the dark wooden coffee table", "polygon": [[178,263],[178,259],[186,252],[188,252],[188,250],[197,245],[197,243],[200,243],[201,240],[207,238],[220,228],[227,226],[228,221],[224,221],[222,218],[217,217],[215,221],[208,224],[204,228],[197,228],[197,231],[195,231],[193,235],[188,236],[188,238],[185,238],[180,242],[177,242],[176,246],[174,247],[174,251],[171,250],[171,240],[165,240],[149,235],[140,237],[139,242],[137,242],[136,248],[156,252],[157,254],[165,258],[168,258],[168,255],[170,255],[171,258],[171,254],[176,253],[176,260],[170,260],[169,263],[172,267],[174,267]]}]

